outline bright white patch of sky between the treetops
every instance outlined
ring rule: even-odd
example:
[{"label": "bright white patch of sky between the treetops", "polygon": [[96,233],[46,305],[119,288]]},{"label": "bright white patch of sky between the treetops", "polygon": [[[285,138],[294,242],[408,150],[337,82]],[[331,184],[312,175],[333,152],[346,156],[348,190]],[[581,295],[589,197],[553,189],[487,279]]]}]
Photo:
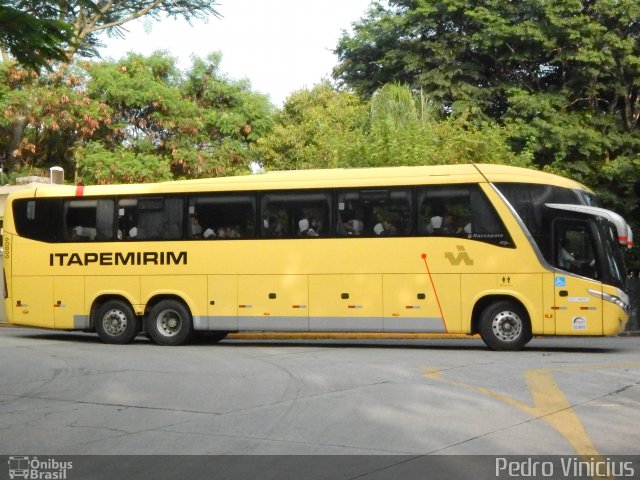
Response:
[{"label": "bright white patch of sky between the treetops", "polygon": [[129,51],[166,50],[186,69],[193,55],[220,51],[223,74],[248,79],[252,90],[281,106],[292,92],[331,76],[338,61],[331,51],[370,1],[219,0],[222,18],[191,25],[182,19],[130,22],[124,39],[101,37],[106,47],[100,54],[118,60]]}]

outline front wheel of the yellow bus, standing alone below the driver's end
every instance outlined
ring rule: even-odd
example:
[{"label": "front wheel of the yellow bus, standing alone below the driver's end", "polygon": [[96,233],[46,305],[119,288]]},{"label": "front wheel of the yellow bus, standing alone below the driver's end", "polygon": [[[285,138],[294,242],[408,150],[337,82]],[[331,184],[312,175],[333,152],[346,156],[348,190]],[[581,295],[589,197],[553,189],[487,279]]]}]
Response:
[{"label": "front wheel of the yellow bus, standing alone below the driver's end", "polygon": [[492,350],[520,350],[532,337],[526,311],[510,300],[488,305],[480,315],[479,331]]}]

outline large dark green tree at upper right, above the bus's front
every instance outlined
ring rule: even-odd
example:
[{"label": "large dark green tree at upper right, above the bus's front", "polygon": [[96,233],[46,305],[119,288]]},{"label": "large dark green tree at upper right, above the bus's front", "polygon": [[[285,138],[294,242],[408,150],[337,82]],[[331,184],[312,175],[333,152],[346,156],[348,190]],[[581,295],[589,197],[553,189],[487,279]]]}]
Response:
[{"label": "large dark green tree at upper right, above the bus's front", "polygon": [[625,198],[637,218],[636,0],[376,2],[336,53],[341,85],[365,98],[391,82],[423,91],[445,116],[505,128],[536,166]]}]

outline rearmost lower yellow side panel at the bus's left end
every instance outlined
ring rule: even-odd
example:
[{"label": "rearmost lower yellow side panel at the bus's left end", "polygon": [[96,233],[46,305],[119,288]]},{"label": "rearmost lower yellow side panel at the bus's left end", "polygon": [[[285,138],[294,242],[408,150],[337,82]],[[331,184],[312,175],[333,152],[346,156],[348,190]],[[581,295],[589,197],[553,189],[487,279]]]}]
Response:
[{"label": "rearmost lower yellow side panel at the bus's left end", "polygon": [[13,322],[53,328],[53,277],[13,277]]}]

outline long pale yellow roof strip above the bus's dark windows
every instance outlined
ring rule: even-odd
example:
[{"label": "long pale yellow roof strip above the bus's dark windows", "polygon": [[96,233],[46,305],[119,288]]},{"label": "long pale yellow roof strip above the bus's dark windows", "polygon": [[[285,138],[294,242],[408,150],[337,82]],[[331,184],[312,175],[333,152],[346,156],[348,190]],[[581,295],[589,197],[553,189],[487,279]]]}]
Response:
[{"label": "long pale yellow roof strip above the bus's dark windows", "polygon": [[573,180],[528,168],[493,164],[418,167],[336,168],[289,170],[234,177],[174,180],[162,183],[51,186],[22,190],[12,197],[85,197],[198,191],[243,191],[338,187],[388,187],[450,183],[517,182],[557,185],[589,191]]}]

